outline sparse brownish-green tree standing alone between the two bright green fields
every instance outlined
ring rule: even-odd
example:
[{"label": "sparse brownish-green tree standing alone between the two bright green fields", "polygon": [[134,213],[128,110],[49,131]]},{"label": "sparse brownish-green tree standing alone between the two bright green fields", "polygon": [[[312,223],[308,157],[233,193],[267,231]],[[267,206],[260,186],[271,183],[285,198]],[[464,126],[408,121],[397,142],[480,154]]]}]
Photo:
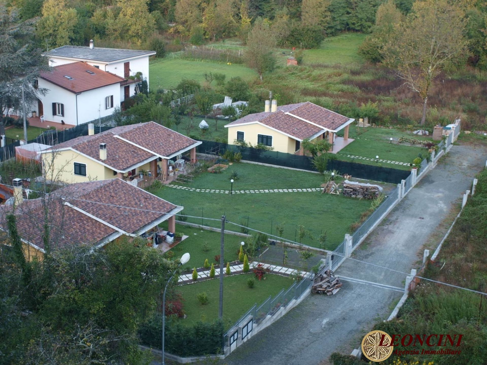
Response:
[{"label": "sparse brownish-green tree standing alone between the two bright green fields", "polygon": [[245,59],[247,65],[259,73],[261,81],[262,73],[272,71],[276,65],[276,43],[276,35],[269,24],[257,18],[248,35]]}]

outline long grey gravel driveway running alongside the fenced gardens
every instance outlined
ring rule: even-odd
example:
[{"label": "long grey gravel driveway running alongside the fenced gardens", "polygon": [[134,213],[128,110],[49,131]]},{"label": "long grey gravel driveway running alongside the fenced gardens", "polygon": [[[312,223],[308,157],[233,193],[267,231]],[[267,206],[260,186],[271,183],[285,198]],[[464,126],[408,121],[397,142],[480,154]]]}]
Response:
[{"label": "long grey gravel driveway running alongside the fenced gardens", "polygon": [[[429,235],[471,187],[487,159],[485,146],[453,146],[362,243],[354,256],[410,272]],[[405,275],[345,260],[338,276],[403,287]],[[386,319],[402,293],[358,280],[343,281],[337,295],[310,295],[272,326],[238,347],[222,364],[317,365],[336,351],[349,354],[377,317]]]}]

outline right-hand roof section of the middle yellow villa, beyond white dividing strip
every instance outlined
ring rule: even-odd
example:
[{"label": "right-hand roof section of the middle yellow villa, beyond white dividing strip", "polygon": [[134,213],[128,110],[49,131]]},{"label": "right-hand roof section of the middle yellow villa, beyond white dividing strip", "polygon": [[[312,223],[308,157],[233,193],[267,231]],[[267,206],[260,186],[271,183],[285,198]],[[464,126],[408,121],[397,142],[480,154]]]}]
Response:
[{"label": "right-hand roof section of the middle yellow villa, beyond white dividing strip", "polygon": [[[114,129],[116,128],[111,130]],[[115,134],[115,132],[113,133]],[[149,149],[164,157],[179,154],[181,151],[196,143],[201,144],[201,142],[195,141],[155,122],[142,123],[137,128],[117,134],[137,146]]]}]

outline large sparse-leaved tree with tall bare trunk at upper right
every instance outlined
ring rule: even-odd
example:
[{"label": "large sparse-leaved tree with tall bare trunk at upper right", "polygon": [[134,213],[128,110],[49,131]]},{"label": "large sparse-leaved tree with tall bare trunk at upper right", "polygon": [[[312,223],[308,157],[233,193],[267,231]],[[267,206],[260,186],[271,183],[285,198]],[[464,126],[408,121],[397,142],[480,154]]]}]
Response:
[{"label": "large sparse-leaved tree with tall bare trunk at upper right", "polygon": [[384,48],[386,64],[423,100],[421,125],[426,120],[431,83],[466,56],[463,18],[464,12],[447,0],[416,1],[412,13],[397,24],[397,37]]}]

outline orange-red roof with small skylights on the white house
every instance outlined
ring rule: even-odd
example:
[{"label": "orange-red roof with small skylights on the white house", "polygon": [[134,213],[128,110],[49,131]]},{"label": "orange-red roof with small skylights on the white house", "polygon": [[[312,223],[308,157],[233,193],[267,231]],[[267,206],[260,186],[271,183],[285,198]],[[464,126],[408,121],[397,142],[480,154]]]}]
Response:
[{"label": "orange-red roof with small skylights on the white house", "polygon": [[75,93],[125,81],[122,77],[97,69],[85,62],[73,62],[51,67],[50,72],[42,72],[39,77]]}]

